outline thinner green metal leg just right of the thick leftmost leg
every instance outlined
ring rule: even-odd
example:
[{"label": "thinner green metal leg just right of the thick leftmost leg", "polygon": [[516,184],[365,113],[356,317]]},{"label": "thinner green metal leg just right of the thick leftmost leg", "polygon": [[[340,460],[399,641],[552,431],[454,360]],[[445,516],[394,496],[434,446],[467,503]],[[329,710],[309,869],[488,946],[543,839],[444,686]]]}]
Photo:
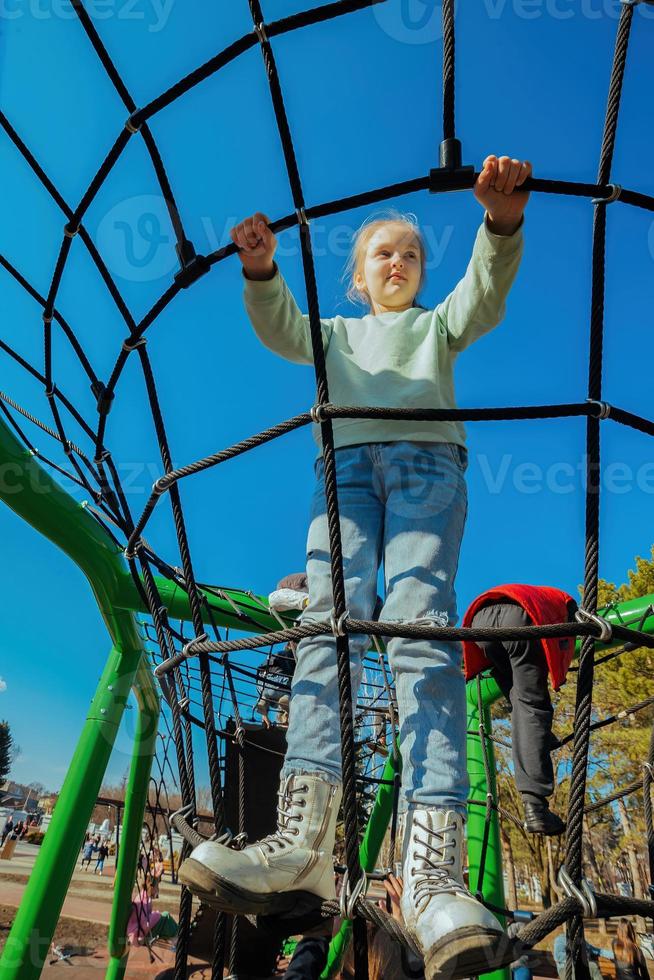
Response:
[{"label": "thinner green metal leg just right of the thick leftmost leg", "polygon": [[134,750],[125,793],[125,817],[122,841],[109,925],[109,956],[106,980],[118,980],[127,966],[127,923],[132,907],[132,890],[136,878],[143,817],[148,800],[150,770],[157,745],[159,702],[152,697],[152,690],[144,674],[143,662],[134,685],[137,694],[138,716],[134,734]]}]

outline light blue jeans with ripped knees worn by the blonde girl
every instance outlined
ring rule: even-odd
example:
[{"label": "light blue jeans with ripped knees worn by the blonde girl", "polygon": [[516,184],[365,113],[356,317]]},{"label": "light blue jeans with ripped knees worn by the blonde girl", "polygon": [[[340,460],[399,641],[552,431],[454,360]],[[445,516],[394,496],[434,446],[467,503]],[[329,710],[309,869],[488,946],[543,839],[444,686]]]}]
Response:
[{"label": "light blue jeans with ripped knees worn by the blonde girl", "polygon": [[[466,450],[450,443],[388,442],[336,450],[346,602],[353,619],[372,619],[383,560],[386,601],[380,621],[457,621],[454,579],[467,512]],[[309,604],[303,622],[333,608],[324,464],[307,541]],[[368,636],[350,635],[353,695]],[[400,809],[448,807],[465,813],[466,701],[461,644],[390,639],[400,718]],[[336,641],[305,637],[293,677],[283,774],[341,779]]]}]

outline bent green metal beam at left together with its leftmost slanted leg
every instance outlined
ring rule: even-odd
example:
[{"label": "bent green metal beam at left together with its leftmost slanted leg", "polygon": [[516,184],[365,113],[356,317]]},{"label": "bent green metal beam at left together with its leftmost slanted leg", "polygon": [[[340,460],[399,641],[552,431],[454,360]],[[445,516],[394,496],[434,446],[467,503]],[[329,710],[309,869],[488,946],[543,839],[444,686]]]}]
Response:
[{"label": "bent green metal beam at left together with its leftmost slanted leg", "polygon": [[[41,973],[137,674],[136,695],[147,730],[156,728],[158,695],[142,663],[143,642],[134,613],[118,601],[128,577],[120,549],[2,420],[0,464],[0,499],[79,565],[114,643],[0,960],[0,980],[32,980]],[[129,877],[126,864],[124,868],[123,880]],[[124,887],[120,895],[125,901]]]}]

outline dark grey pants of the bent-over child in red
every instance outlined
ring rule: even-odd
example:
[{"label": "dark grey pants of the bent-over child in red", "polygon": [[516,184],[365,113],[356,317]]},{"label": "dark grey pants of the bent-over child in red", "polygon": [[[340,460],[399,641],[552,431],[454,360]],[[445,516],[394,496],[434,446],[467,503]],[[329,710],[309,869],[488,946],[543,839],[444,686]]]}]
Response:
[{"label": "dark grey pants of the bent-over child in red", "polygon": [[[521,606],[496,603],[475,613],[473,627],[533,626]],[[521,794],[551,796],[554,772],[550,757],[553,708],[547,686],[547,661],[534,640],[482,640],[477,645],[493,667],[493,676],[512,708],[511,740],[515,784]]]}]

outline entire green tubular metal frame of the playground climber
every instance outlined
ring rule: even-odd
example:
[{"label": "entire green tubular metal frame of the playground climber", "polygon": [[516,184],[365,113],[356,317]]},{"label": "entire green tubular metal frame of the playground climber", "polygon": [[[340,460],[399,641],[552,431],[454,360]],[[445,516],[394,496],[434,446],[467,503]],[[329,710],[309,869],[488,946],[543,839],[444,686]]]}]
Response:
[{"label": "entire green tubular metal frame of the playground climber", "polygon": [[[146,635],[137,613],[147,613],[121,549],[89,512],[47,473],[0,419],[0,499],[39,533],[60,547],[89,580],[111,637],[112,648],[82,729],[50,827],[0,959],[0,980],[32,980],[40,975],[64,898],[73,875],[91,812],[102,783],[130,690],[138,720],[126,794],[126,810],[109,929],[110,961],[106,977],[118,980],[127,966],[126,926],[131,910],[148,781],[159,720],[159,693],[147,658]],[[169,614],[190,618],[184,591],[157,578]],[[266,601],[250,594],[207,587],[204,592],[214,622],[251,632],[273,631],[279,621]],[[610,608],[604,615],[622,626],[654,632],[654,596]],[[289,619],[290,623],[291,620]],[[617,644],[613,644],[615,646]],[[609,649],[607,646],[606,649]],[[468,821],[470,886],[481,885],[484,898],[504,908],[502,861],[497,814],[487,806],[495,798],[495,759],[490,732],[490,706],[500,697],[494,681],[468,684],[468,768],[471,805]],[[369,826],[361,846],[364,869],[374,868],[393,808],[397,778],[389,757]],[[328,971],[333,975],[349,939],[349,923],[335,937]],[[498,971],[497,976],[506,971]]]}]

